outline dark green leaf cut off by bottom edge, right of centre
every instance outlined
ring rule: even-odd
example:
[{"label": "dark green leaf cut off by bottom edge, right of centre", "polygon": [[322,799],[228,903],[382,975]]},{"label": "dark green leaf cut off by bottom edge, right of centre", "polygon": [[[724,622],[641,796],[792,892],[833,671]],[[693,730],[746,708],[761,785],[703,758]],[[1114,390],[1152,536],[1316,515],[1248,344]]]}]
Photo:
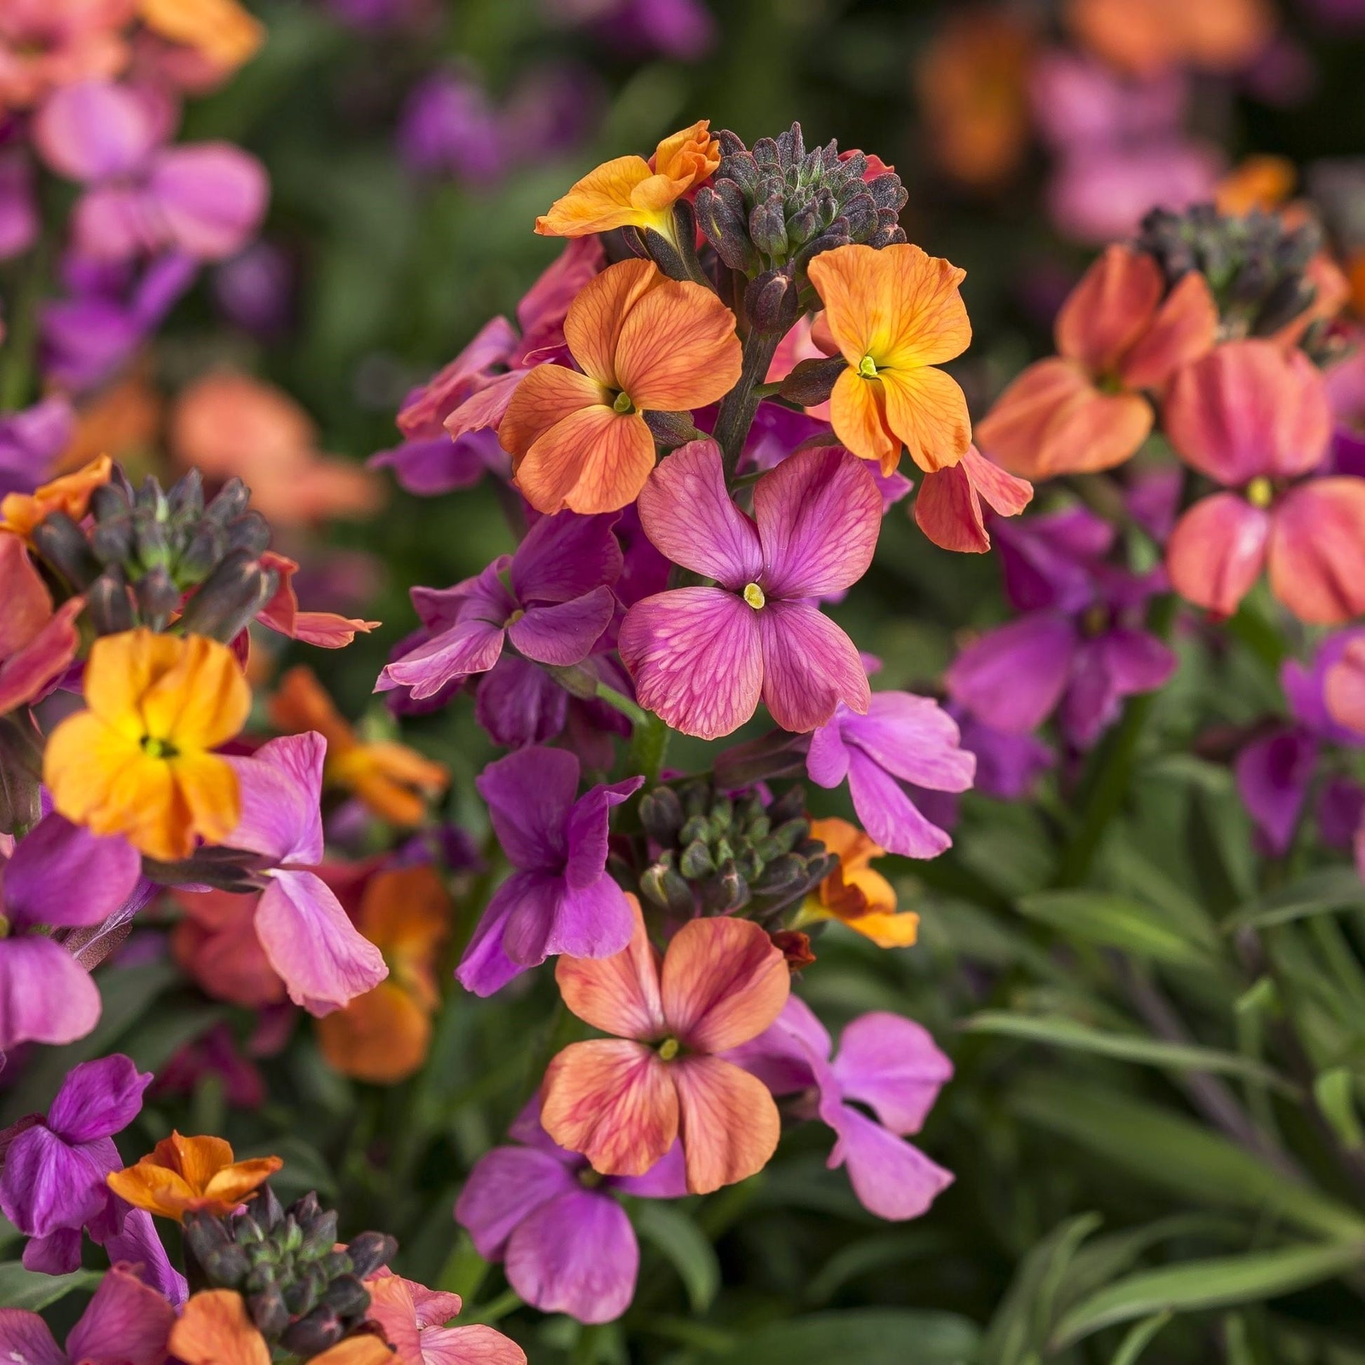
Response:
[{"label": "dark green leaf cut off by bottom edge, right of centre", "polygon": [[721,1358],[744,1365],[971,1365],[979,1342],[976,1324],[957,1313],[848,1309],[774,1323]]}]

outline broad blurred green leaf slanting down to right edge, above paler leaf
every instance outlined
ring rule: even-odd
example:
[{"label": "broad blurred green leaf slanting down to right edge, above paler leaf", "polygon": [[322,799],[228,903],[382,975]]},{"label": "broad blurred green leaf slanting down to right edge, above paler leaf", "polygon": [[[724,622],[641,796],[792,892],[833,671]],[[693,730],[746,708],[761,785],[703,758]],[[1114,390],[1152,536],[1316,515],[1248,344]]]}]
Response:
[{"label": "broad blurred green leaf slanting down to right edge, above paler leaf", "polygon": [[1020,1117],[1197,1205],[1275,1213],[1328,1237],[1365,1237],[1365,1222],[1351,1209],[1155,1104],[1039,1073],[1020,1081],[1010,1104]]}]

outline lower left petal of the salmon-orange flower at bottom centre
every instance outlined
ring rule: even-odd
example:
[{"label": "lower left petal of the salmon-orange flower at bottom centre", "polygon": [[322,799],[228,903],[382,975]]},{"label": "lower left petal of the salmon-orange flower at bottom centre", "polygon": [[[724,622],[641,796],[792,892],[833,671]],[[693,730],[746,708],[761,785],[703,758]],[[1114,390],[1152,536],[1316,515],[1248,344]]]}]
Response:
[{"label": "lower left petal of the salmon-orange flower at bottom centre", "polygon": [[541,1123],[603,1175],[643,1175],[678,1134],[677,1091],[654,1048],[571,1043],[545,1073]]}]

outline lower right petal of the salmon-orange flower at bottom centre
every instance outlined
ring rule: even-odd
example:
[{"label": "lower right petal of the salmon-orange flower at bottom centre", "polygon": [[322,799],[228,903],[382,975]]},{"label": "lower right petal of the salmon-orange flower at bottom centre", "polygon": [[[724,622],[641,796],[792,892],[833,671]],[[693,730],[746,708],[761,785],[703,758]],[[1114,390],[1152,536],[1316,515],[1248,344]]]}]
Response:
[{"label": "lower right petal of the salmon-orange flower at bottom centre", "polygon": [[672,1076],[688,1190],[710,1194],[762,1171],[782,1133],[768,1088],[718,1057],[680,1058]]}]

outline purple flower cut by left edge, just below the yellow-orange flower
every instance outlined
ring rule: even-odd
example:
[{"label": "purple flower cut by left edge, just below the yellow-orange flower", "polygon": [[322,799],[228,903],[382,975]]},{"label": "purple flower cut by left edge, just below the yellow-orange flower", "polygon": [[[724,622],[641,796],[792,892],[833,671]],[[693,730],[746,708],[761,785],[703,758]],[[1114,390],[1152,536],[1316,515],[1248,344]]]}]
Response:
[{"label": "purple flower cut by left edge, just below the yellow-orange flower", "polygon": [[3,867],[0,915],[0,1052],[18,1043],[74,1043],[100,1021],[89,972],[40,925],[89,928],[132,895],[136,849],[98,838],[60,815],[41,819]]}]

